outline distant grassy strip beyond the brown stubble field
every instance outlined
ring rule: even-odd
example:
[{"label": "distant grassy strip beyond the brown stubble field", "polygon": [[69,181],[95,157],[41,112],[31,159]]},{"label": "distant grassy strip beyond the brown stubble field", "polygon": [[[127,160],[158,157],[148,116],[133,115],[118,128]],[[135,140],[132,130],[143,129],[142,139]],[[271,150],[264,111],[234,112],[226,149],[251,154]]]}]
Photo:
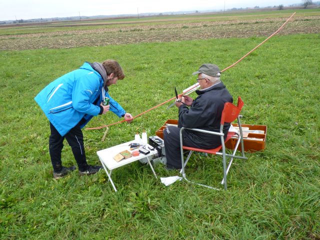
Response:
[{"label": "distant grassy strip beyond the brown stubble field", "polygon": [[[21,26],[0,27],[0,35],[19,35],[25,33],[55,32],[66,30],[84,30],[96,28],[127,27],[140,25],[174,24],[201,21],[227,21],[227,20],[254,20],[272,17],[289,17],[293,12],[298,16],[314,16],[320,14],[320,8],[312,9],[291,9],[291,10],[272,10],[272,11],[238,11],[238,12],[216,12],[214,14],[185,14],[185,15],[163,15],[145,16],[140,18],[114,18],[96,19],[81,21],[62,21],[47,23],[30,23]],[[129,23],[130,22],[130,23]],[[81,25],[86,24],[86,25]],[[92,24],[92,25],[87,25]],[[94,25],[99,24],[99,25]]]}]

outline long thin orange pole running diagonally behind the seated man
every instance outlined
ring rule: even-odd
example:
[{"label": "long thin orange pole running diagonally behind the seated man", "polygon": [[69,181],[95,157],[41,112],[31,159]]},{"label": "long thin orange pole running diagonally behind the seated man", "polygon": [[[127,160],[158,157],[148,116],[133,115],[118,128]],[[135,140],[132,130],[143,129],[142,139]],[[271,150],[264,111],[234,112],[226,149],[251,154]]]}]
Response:
[{"label": "long thin orange pole running diagonally behind the seated man", "polygon": [[[292,18],[292,16],[295,14],[295,12],[293,12],[293,14],[275,31],[273,32],[270,36],[268,36],[266,39],[264,39],[261,43],[259,43],[256,47],[254,47],[252,50],[250,50],[248,53],[246,53],[244,56],[242,56],[239,60],[237,60],[236,62],[234,62],[232,65],[229,65],[228,67],[224,68],[223,70],[221,70],[221,72],[231,68],[232,66],[234,66],[235,64],[239,63],[241,60],[243,60],[243,58],[245,58],[247,55],[249,55],[252,51],[254,51],[256,48],[258,48],[260,45],[262,45],[264,42],[266,42],[268,39],[270,39],[273,35],[275,35],[276,33],[278,33],[282,27]],[[194,87],[198,87],[198,86],[194,86]],[[194,87],[192,87],[191,89],[193,89]],[[191,90],[189,89],[189,90]],[[179,94],[179,95],[182,95],[182,94]],[[146,110],[146,111],[143,111],[141,112],[140,114],[137,114],[136,116],[133,116],[131,119],[134,119],[150,110],[153,110],[154,108],[157,108],[171,100],[175,99],[175,97],[172,97],[156,106],[153,106],[151,107],[150,109]],[[117,122],[114,122],[114,123],[111,123],[111,124],[107,124],[107,125],[103,125],[103,126],[98,126],[98,127],[88,127],[88,128],[85,128],[86,130],[91,130],[91,129],[101,129],[103,127],[107,127],[107,126],[112,126],[112,125],[115,125],[115,124],[118,124],[118,123],[121,123],[121,122],[124,122],[125,120],[122,120],[122,121],[117,121]]]}]

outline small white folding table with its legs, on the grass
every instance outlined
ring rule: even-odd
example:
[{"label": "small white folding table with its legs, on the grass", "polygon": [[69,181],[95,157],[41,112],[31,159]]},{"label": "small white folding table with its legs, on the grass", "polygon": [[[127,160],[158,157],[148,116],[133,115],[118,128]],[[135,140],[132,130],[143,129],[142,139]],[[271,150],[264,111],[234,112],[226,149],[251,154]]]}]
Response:
[{"label": "small white folding table with its legs, on the grass", "polygon": [[[126,164],[129,164],[129,163],[131,163],[133,161],[136,161],[136,160],[139,160],[139,159],[142,159],[142,158],[146,158],[147,159],[147,161],[149,163],[149,166],[151,167],[151,170],[152,170],[155,178],[157,178],[157,176],[155,174],[155,171],[154,171],[154,169],[152,167],[152,164],[150,162],[150,160],[152,159],[153,155],[157,154],[157,151],[155,149],[154,150],[150,150],[148,148],[148,146],[150,148],[153,148],[153,147],[150,146],[149,144],[146,144],[146,146],[145,146],[145,148],[150,151],[146,155],[140,153],[138,156],[131,156],[131,157],[127,158],[127,159],[123,159],[123,160],[120,160],[118,162],[113,159],[113,156],[115,156],[116,154],[118,154],[119,152],[121,152],[123,150],[130,151],[129,150],[130,149],[129,144],[131,142],[134,142],[134,140],[128,141],[128,142],[124,142],[124,143],[121,143],[119,145],[115,145],[115,146],[112,146],[112,147],[109,147],[109,148],[105,148],[105,149],[102,149],[102,150],[99,150],[99,151],[96,152],[96,154],[98,155],[98,157],[99,157],[99,159],[101,161],[101,164],[102,164],[102,166],[103,166],[103,168],[104,168],[104,170],[105,170],[105,172],[106,172],[106,174],[107,174],[107,176],[108,176],[108,178],[109,178],[109,180],[110,180],[110,182],[112,184],[112,187],[113,187],[113,189],[115,191],[116,191],[116,188],[115,188],[114,183],[113,183],[113,181],[111,179],[111,171],[113,169],[115,169],[115,168],[118,168],[120,166],[124,166]],[[130,152],[132,152],[132,151],[130,151]]]}]

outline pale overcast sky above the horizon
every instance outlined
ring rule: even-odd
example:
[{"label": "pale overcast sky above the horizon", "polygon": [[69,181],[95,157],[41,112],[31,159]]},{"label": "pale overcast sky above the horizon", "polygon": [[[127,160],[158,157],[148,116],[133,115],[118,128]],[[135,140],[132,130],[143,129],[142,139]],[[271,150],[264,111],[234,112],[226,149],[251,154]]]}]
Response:
[{"label": "pale overcast sky above the horizon", "polygon": [[0,0],[0,20],[288,5],[301,0]]}]

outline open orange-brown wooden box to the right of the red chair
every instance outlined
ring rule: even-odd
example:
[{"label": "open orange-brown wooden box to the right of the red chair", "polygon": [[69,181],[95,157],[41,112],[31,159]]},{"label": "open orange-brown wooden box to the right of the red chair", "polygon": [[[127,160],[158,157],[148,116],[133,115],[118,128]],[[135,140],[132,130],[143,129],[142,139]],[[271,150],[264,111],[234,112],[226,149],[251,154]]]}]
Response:
[{"label": "open orange-brown wooden box to the right of the red chair", "polygon": [[[234,127],[237,127],[238,124],[233,124]],[[249,132],[247,134],[247,137],[243,137],[243,145],[244,145],[244,151],[248,152],[254,152],[254,151],[263,151],[265,148],[265,138],[266,138],[266,125],[252,125],[252,124],[241,124],[242,128],[243,127],[248,127],[249,130],[262,130],[264,133],[251,133]],[[243,131],[244,133],[245,131]],[[227,148],[233,149],[237,137],[234,136],[231,139],[229,139],[226,143],[225,146]],[[241,143],[238,146],[238,150],[241,150]]]}]

